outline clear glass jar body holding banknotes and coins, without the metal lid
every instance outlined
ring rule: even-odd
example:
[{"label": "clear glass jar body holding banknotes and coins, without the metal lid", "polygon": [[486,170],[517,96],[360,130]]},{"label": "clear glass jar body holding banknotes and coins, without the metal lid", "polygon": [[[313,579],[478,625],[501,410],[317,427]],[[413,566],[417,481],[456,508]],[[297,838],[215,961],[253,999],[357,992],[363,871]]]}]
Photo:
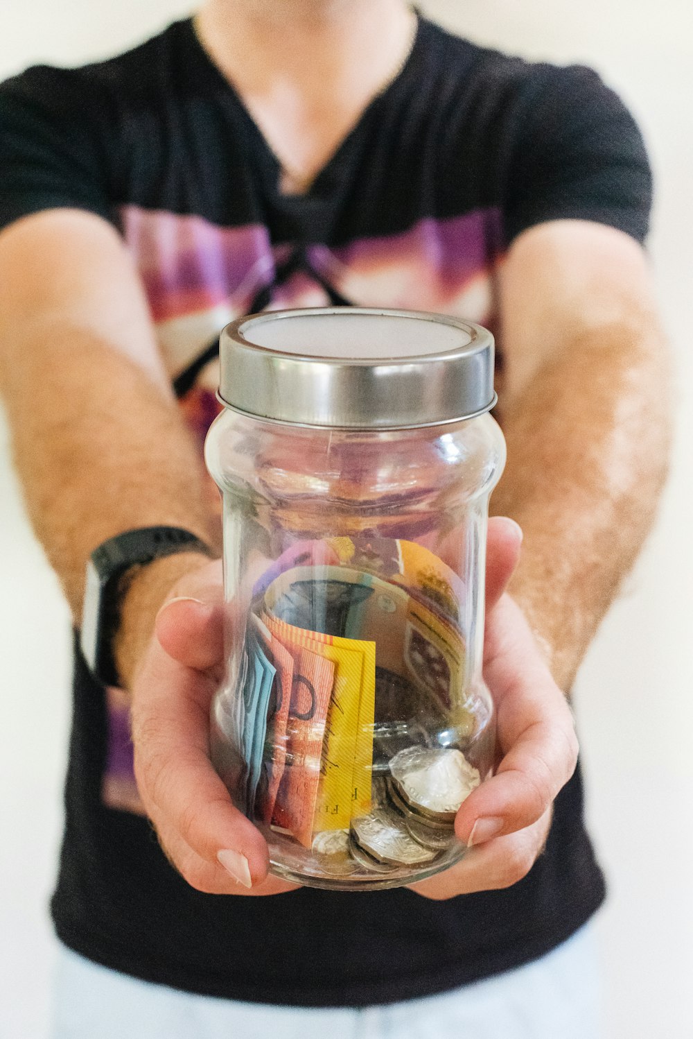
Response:
[{"label": "clear glass jar body holding banknotes and coins, without the metal lid", "polygon": [[446,783],[471,790],[493,768],[483,575],[504,458],[488,415],[387,431],[215,420],[226,675],[212,756],[277,875],[375,889],[464,854],[436,790],[445,802]]}]

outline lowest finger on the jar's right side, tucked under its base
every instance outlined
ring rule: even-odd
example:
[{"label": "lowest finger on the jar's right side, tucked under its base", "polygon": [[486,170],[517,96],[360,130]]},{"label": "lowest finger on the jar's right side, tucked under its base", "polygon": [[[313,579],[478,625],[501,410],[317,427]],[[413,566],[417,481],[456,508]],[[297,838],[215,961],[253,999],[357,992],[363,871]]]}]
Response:
[{"label": "lowest finger on the jar's right side, tucked under its base", "polygon": [[510,887],[527,876],[542,854],[553,816],[549,808],[531,826],[470,849],[462,861],[427,880],[409,885],[436,901]]}]

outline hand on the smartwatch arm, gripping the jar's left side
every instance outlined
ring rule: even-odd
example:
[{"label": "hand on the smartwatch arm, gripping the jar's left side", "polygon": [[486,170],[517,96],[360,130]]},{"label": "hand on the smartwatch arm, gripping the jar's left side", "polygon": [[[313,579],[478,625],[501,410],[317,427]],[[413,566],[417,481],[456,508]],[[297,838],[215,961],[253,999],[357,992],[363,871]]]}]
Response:
[{"label": "hand on the smartwatch arm, gripping the jar's left side", "polygon": [[169,861],[212,895],[278,895],[261,833],[210,761],[210,708],[224,672],[221,561],[185,575],[161,608],[132,683],[135,775]]}]

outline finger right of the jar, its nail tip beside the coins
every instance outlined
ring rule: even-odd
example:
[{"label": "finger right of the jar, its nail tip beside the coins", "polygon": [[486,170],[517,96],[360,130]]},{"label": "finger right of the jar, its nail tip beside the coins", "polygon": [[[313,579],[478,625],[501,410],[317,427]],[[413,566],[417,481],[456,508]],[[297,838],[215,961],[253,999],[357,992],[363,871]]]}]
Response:
[{"label": "finger right of the jar, its nail tip beside the coins", "polygon": [[578,755],[570,708],[508,596],[489,618],[487,632],[491,649],[483,675],[497,707],[504,756],[455,818],[459,837],[474,844],[539,819],[575,771]]}]

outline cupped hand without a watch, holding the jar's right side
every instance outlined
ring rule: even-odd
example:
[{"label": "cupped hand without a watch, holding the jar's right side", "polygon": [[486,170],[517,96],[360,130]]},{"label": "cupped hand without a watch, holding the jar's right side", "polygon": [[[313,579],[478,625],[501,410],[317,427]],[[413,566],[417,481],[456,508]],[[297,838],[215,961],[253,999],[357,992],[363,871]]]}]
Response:
[{"label": "cupped hand without a watch, holding the jar's right side", "polygon": [[520,607],[504,592],[520,543],[515,524],[490,521],[483,678],[496,709],[500,761],[458,811],[465,857],[411,885],[425,898],[509,887],[526,876],[546,844],[553,801],[575,771],[572,712]]}]

